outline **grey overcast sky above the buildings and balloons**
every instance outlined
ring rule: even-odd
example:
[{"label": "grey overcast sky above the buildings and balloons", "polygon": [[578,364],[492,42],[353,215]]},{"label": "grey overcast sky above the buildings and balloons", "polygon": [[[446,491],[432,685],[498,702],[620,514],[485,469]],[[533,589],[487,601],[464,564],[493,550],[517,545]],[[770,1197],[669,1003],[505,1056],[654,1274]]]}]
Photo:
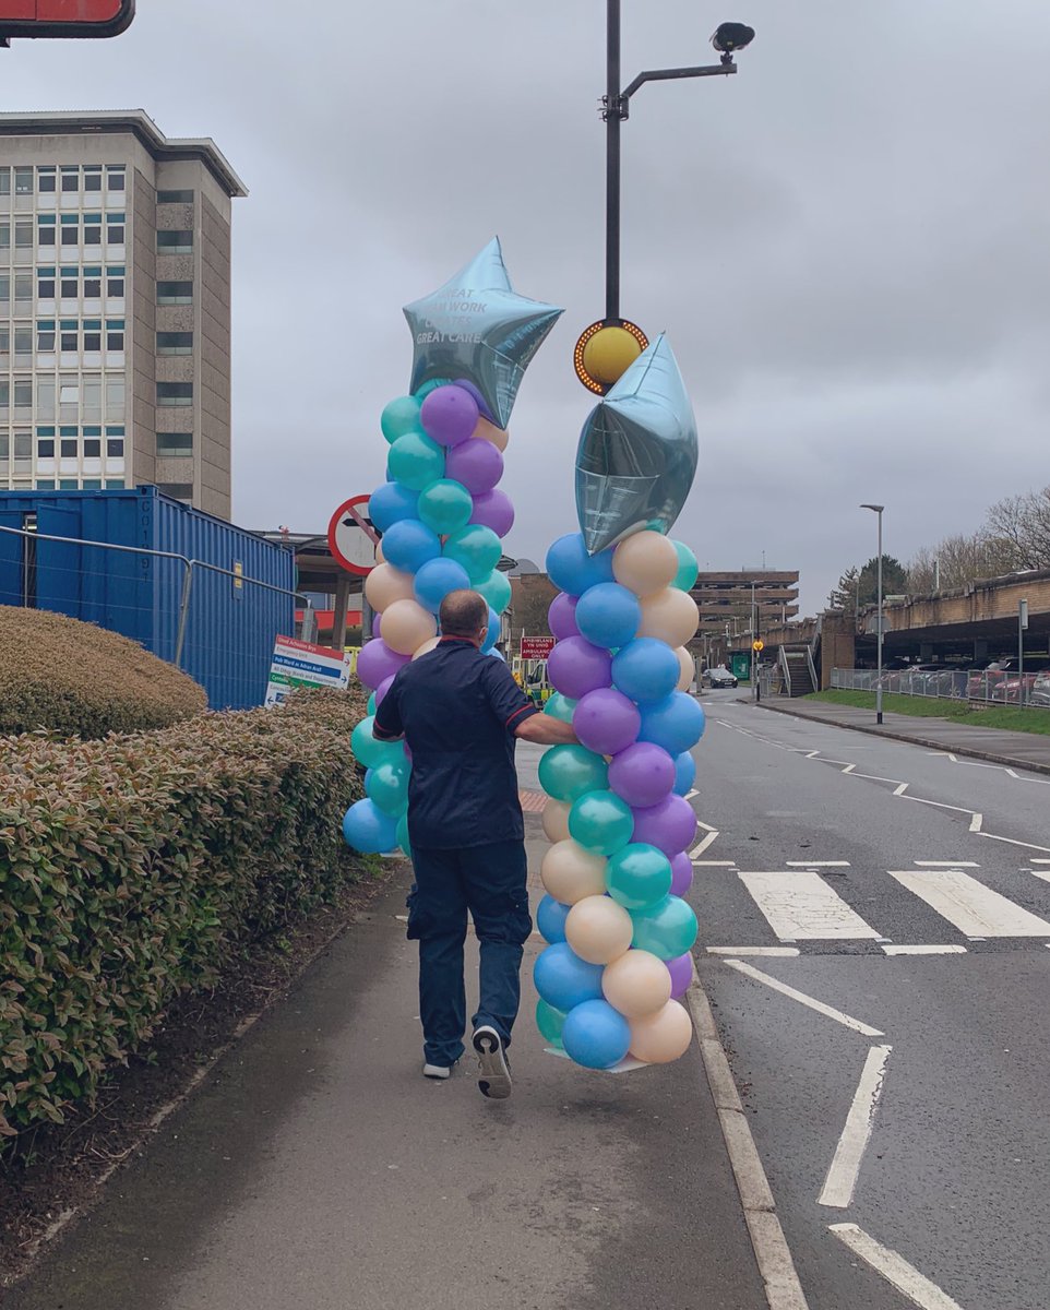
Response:
[{"label": "grey overcast sky above the buildings and balloons", "polygon": [[[623,0],[622,312],[666,329],[700,468],[676,528],[702,567],[803,574],[975,528],[1050,482],[1046,0]],[[494,233],[515,288],[564,305],[529,368],[504,487],[511,554],[575,528],[604,312],[601,0],[139,0],[109,42],[0,51],[3,105],[136,109],[212,136],[234,203],[234,519],[323,531],[384,476],[407,383],[401,307]]]}]

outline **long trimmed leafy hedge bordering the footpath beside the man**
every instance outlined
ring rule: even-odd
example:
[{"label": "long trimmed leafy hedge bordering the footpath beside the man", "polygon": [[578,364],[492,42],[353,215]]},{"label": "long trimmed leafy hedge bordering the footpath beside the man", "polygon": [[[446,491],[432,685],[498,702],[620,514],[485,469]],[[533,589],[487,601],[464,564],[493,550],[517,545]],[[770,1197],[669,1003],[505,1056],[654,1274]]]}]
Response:
[{"label": "long trimmed leafy hedge bordering the footpath beside the man", "polygon": [[0,1134],[63,1121],[179,994],[360,871],[357,693],[105,741],[0,739]]}]

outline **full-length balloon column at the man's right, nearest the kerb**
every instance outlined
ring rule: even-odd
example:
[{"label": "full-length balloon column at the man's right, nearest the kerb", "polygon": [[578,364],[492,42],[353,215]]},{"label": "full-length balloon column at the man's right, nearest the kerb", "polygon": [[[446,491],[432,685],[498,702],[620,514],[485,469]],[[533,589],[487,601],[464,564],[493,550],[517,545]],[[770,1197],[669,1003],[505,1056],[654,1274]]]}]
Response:
[{"label": "full-length balloon column at the man's right, nearest the kerb", "polygon": [[[697,430],[670,347],[656,341],[584,426],[580,533],[554,542],[547,572],[556,642],[547,713],[580,745],[539,764],[552,842],[537,924],[537,1023],[590,1069],[677,1060],[693,1036],[679,1003],[693,976],[697,819],[686,799],[704,730],[687,694],[699,625],[697,559],[665,533],[697,468]],[[602,474],[606,469],[606,474]],[[593,553],[592,553],[593,552]]]}]

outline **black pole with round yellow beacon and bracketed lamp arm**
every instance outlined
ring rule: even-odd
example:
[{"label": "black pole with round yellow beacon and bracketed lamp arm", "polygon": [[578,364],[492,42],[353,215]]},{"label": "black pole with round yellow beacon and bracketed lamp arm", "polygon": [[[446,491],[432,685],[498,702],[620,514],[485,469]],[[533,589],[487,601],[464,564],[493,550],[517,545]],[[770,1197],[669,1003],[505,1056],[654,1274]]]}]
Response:
[{"label": "black pole with round yellow beacon and bracketed lamp arm", "polygon": [[733,54],[754,41],[754,29],[742,22],[723,22],[711,37],[721,59],[716,64],[689,68],[651,68],[621,90],[619,77],[621,0],[606,0],[606,93],[601,98],[605,136],[605,318],[590,324],[576,343],[576,376],[598,396],[627,371],[648,341],[642,329],[619,316],[619,124],[630,117],[631,96],[647,81],[678,81],[682,77],[725,77],[737,71]]}]

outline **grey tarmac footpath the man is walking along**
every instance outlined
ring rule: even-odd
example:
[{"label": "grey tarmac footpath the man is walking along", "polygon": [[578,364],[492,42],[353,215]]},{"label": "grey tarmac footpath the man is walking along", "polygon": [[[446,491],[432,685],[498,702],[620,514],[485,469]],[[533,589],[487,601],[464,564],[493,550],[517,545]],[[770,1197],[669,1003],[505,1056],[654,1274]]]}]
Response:
[{"label": "grey tarmac footpath the man is walking along", "polygon": [[[466,1058],[422,1077],[410,878],[399,866],[5,1310],[765,1310],[695,1043],[619,1076],[545,1055],[533,939],[512,1098],[486,1100]],[[467,959],[470,996],[470,942]]]}]

